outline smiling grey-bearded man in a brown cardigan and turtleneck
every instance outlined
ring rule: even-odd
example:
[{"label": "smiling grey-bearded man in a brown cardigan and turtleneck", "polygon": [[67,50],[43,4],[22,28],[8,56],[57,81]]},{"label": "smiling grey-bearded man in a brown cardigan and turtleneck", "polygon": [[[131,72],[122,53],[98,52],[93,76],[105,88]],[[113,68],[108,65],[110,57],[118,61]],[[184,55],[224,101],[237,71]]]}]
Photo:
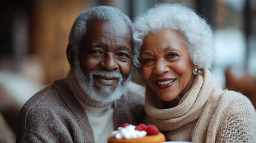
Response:
[{"label": "smiling grey-bearded man in a brown cardigan and turtleneck", "polygon": [[122,123],[143,122],[144,88],[130,82],[131,25],[113,7],[78,15],[67,45],[71,69],[23,106],[17,142],[107,142]]}]

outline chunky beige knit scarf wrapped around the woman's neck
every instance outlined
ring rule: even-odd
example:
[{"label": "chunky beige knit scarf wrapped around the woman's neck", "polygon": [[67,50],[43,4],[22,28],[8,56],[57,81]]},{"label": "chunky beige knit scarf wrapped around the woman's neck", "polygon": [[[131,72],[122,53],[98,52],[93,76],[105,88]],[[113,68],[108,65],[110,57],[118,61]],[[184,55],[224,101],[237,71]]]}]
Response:
[{"label": "chunky beige knit scarf wrapped around the woman's neck", "polygon": [[164,101],[147,89],[145,99],[147,116],[149,116],[150,122],[158,126],[160,130],[180,128],[199,118],[203,107],[214,94],[216,87],[210,71],[204,69],[202,74],[196,75],[192,88],[173,108],[164,107]]}]

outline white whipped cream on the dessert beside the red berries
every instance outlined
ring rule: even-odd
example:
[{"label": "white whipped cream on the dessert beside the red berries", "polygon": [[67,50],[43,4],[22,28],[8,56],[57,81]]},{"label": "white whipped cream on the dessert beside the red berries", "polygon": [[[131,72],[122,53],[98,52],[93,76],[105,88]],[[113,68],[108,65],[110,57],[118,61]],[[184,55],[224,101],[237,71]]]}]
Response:
[{"label": "white whipped cream on the dessert beside the red berries", "polygon": [[141,138],[147,135],[145,130],[135,130],[134,125],[128,125],[125,128],[119,127],[118,130],[112,132],[112,137],[116,139],[134,139]]}]

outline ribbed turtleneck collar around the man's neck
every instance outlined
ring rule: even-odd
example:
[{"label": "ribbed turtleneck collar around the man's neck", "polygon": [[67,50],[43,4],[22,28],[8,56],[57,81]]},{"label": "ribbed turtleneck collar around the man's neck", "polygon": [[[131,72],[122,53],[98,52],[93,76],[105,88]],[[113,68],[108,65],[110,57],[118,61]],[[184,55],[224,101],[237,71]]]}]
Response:
[{"label": "ribbed turtleneck collar around the man's neck", "polygon": [[79,102],[82,104],[83,107],[89,106],[89,107],[95,107],[95,108],[105,108],[105,107],[109,107],[109,105],[112,104],[112,103],[104,104],[103,102],[92,100],[87,94],[85,94],[81,86],[78,84],[78,81],[73,76],[72,70],[69,70],[69,73],[67,74],[65,82],[69,86],[69,88],[72,90],[73,94],[76,96],[76,98],[79,100]]}]

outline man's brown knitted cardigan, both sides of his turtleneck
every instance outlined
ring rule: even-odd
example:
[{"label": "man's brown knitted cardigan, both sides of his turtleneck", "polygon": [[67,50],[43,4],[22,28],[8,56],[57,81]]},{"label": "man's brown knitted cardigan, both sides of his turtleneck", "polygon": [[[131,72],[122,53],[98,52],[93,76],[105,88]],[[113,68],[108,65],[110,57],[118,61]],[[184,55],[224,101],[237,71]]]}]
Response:
[{"label": "man's brown knitted cardigan, both sides of his turtleneck", "polygon": [[[144,120],[144,97],[132,90],[113,103],[114,129],[125,122],[137,125]],[[92,143],[94,135],[87,113],[69,86],[56,80],[21,108],[16,142]]]}]

